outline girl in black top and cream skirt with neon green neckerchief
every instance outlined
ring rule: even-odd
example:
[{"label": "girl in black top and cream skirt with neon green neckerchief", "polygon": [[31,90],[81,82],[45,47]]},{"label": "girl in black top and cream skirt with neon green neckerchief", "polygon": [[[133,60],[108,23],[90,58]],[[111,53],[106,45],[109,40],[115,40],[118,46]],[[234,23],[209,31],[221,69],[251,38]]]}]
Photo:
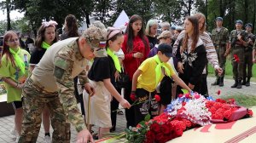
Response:
[{"label": "girl in black top and cream skirt with neon green neckerchief", "polygon": [[119,51],[123,42],[124,36],[122,31],[109,27],[106,44],[108,56],[95,58],[88,74],[96,90],[96,94],[91,97],[90,124],[99,127],[99,139],[102,138],[104,133],[108,133],[109,129],[112,127],[110,117],[110,101],[112,100],[112,96],[118,100],[124,108],[131,107],[130,103],[114,88],[115,72],[121,71],[119,59],[114,52]]}]

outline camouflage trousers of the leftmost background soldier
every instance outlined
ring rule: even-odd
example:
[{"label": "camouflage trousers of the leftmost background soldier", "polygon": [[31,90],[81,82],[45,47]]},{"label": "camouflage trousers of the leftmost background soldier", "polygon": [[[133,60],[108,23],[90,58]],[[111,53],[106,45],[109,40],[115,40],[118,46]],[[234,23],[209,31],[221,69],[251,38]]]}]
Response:
[{"label": "camouflage trousers of the leftmost background soldier", "polygon": [[216,53],[218,55],[218,64],[222,68],[223,72],[220,76],[218,76],[218,72],[215,72],[216,77],[224,77],[225,75],[225,64],[226,64],[226,57],[224,57],[224,54],[226,52],[225,46],[216,46]]}]

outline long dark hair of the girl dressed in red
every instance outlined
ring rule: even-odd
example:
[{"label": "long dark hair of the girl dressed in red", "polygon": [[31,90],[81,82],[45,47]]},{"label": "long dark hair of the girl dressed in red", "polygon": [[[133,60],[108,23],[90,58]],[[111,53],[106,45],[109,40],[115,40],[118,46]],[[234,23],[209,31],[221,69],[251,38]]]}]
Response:
[{"label": "long dark hair of the girl dressed in red", "polygon": [[[137,14],[132,15],[130,20],[129,20],[128,26],[125,30],[125,34],[127,34],[127,37],[128,37],[127,52],[129,52],[129,53],[133,49],[134,32],[133,32],[133,29],[132,29],[132,24],[133,24],[133,22],[135,22],[137,20],[141,20],[143,22],[143,18],[141,16],[139,16]],[[143,40],[145,48],[148,49],[148,44],[147,44],[147,41],[145,39],[146,37],[145,37],[145,34],[144,34],[143,25],[142,25],[142,29],[140,31],[138,31],[137,35]]]}]

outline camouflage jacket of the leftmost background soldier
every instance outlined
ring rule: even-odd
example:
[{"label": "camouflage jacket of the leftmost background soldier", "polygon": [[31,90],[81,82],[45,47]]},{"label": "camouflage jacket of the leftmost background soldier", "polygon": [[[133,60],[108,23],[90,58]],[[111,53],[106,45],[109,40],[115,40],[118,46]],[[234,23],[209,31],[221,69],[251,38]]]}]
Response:
[{"label": "camouflage jacket of the leftmost background soldier", "polygon": [[217,31],[217,28],[212,30],[212,43],[214,46],[220,46],[229,43],[229,38],[229,30],[225,27],[222,27],[220,31]]}]

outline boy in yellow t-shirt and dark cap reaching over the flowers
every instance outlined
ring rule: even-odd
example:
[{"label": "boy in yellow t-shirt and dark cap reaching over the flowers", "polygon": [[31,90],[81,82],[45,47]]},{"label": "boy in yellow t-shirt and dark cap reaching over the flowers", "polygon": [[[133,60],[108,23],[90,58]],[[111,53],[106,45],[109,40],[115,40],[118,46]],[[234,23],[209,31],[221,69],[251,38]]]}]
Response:
[{"label": "boy in yellow t-shirt and dark cap reaching over the flowers", "polygon": [[132,78],[131,94],[137,95],[139,102],[143,102],[135,106],[135,121],[136,124],[143,121],[143,118],[149,113],[151,117],[158,115],[158,104],[154,98],[154,90],[156,86],[163,79],[164,75],[172,77],[174,81],[187,89],[191,89],[183,83],[175,72],[173,72],[171,65],[167,63],[172,57],[172,47],[169,44],[161,43],[157,49],[157,54],[154,57],[144,60],[142,65],[139,66]]}]

